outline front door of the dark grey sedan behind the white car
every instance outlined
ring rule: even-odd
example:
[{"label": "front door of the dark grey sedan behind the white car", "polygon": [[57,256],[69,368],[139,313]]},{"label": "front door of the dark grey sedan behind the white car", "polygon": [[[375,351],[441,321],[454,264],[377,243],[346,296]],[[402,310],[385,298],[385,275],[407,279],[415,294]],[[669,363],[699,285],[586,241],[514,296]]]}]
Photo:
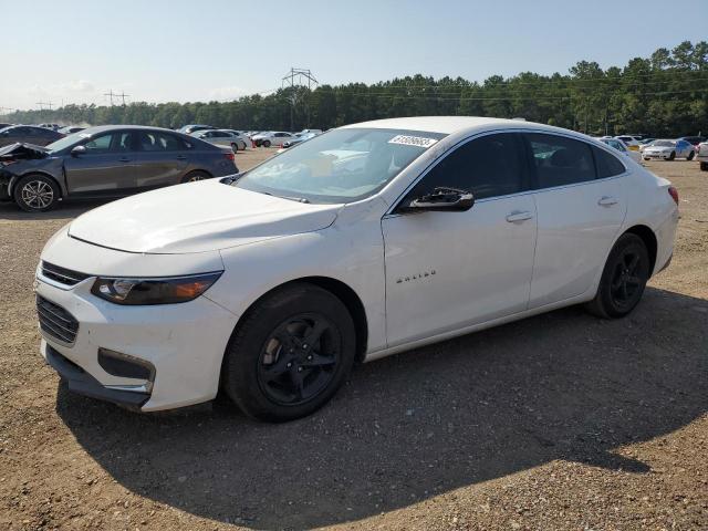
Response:
[{"label": "front door of the dark grey sedan behind the white car", "polygon": [[86,153],[64,159],[66,186],[73,195],[121,195],[135,188],[135,136],[131,131],[97,134],[83,144]]}]

